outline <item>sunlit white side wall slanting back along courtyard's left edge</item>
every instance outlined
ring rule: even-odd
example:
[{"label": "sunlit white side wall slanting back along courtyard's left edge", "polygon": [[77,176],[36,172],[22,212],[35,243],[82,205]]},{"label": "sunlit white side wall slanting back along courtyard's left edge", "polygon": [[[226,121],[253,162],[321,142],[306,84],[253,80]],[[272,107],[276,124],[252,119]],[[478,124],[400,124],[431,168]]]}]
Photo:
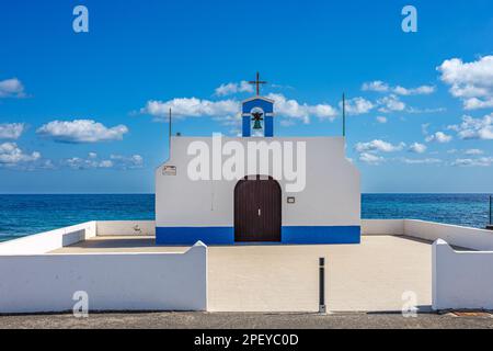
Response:
[{"label": "sunlit white side wall slanting back along courtyard's left edge", "polygon": [[39,254],[82,241],[96,235],[96,223],[87,222],[70,227],[39,233],[0,242],[0,254]]}]

